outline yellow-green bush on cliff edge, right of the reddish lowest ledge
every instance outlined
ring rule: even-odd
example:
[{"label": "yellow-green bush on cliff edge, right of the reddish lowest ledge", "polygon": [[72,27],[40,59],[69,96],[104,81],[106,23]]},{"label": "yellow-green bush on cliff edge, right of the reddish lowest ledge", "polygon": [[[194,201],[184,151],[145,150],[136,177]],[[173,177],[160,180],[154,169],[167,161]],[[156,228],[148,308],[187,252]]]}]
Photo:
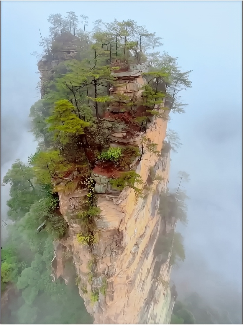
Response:
[{"label": "yellow-green bush on cliff edge, right of the reddish lowest ledge", "polygon": [[143,184],[142,178],[134,171],[124,172],[120,177],[110,179],[111,186],[119,191],[122,191],[126,186],[134,189],[136,194],[141,194],[142,190],[137,188],[135,184]]}]

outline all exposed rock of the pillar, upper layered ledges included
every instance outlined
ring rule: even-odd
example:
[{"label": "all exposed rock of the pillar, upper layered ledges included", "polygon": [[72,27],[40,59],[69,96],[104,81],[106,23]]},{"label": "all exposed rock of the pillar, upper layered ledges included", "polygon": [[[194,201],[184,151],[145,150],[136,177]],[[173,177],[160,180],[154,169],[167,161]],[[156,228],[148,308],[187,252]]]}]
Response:
[{"label": "all exposed rock of the pillar, upper layered ledges included", "polygon": [[[39,64],[41,78],[45,78],[45,68],[45,63]],[[130,99],[141,97],[144,69],[143,65],[133,65],[124,71],[121,68],[115,74],[117,82],[116,86],[111,86],[110,95],[124,94],[124,105]],[[128,119],[123,104],[122,101],[112,103],[103,118],[109,121],[117,117]],[[170,162],[170,146],[164,141],[168,110],[163,110],[163,105],[156,107],[160,117],[150,114],[150,123],[144,132],[133,129],[110,134],[113,147],[127,144],[139,147],[142,157],[134,159],[126,170],[141,175],[142,195],[138,196],[130,187],[121,192],[115,190],[110,179],[119,175],[119,171],[95,166],[92,178],[101,213],[94,220],[97,240],[92,247],[77,240],[82,223],[75,218],[75,211],[85,203],[87,188],[77,187],[72,192],[59,190],[58,193],[60,212],[69,228],[68,234],[54,243],[53,280],[63,277],[68,281],[70,275],[65,265],[72,258],[79,293],[96,324],[170,322],[173,308],[169,287],[171,266],[169,256],[164,258],[160,240],[174,225],[166,224],[158,214],[160,194],[168,184]],[[138,109],[141,116],[143,107]],[[156,152],[149,149],[151,143],[157,144]]]}]

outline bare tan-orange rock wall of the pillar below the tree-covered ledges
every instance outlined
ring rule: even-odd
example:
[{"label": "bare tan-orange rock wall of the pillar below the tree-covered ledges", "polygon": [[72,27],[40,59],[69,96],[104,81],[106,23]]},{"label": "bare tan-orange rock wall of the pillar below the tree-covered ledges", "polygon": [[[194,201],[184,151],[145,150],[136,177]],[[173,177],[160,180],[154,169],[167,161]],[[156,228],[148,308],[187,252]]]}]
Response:
[{"label": "bare tan-orange rock wall of the pillar below the tree-covered ledges", "polygon": [[[158,143],[158,150],[162,150],[166,126],[163,119],[154,119],[144,134]],[[70,195],[59,192],[60,211],[69,223],[69,234],[62,244],[72,249],[79,292],[97,324],[169,323],[173,306],[168,285],[170,265],[169,260],[162,261],[163,247],[161,252],[155,250],[165,231],[157,209],[160,193],[168,183],[170,156],[162,153],[158,158],[146,150],[136,168],[144,184],[151,168],[156,174],[149,188],[144,188],[143,199],[137,199],[131,188],[120,194],[98,194],[99,240],[92,250],[77,241],[81,226],[70,217],[74,207],[82,206],[86,190]],[[92,302],[92,295],[102,286],[106,287],[105,295],[99,293],[98,301]]]}]

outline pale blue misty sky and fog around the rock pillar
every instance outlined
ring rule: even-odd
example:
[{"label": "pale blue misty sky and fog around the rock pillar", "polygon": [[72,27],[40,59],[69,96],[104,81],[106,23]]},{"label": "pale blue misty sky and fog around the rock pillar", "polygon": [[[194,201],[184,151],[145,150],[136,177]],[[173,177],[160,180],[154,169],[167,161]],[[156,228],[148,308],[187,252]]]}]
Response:
[{"label": "pale blue misty sky and fog around the rock pillar", "polygon": [[[161,51],[192,69],[192,88],[183,93],[185,114],[171,114],[168,127],[183,143],[172,154],[170,187],[186,171],[188,227],[186,260],[173,271],[179,295],[200,291],[217,297],[242,291],[242,2],[241,1],[2,1],[1,2],[1,180],[15,159],[27,161],[36,144],[29,130],[29,108],[39,98],[36,58],[39,28],[47,18],[74,10],[89,17],[133,19],[163,37]],[[2,219],[7,187],[2,187]],[[2,231],[3,235],[3,231]],[[228,291],[227,291],[228,290]],[[215,298],[216,299],[216,298]]]}]

